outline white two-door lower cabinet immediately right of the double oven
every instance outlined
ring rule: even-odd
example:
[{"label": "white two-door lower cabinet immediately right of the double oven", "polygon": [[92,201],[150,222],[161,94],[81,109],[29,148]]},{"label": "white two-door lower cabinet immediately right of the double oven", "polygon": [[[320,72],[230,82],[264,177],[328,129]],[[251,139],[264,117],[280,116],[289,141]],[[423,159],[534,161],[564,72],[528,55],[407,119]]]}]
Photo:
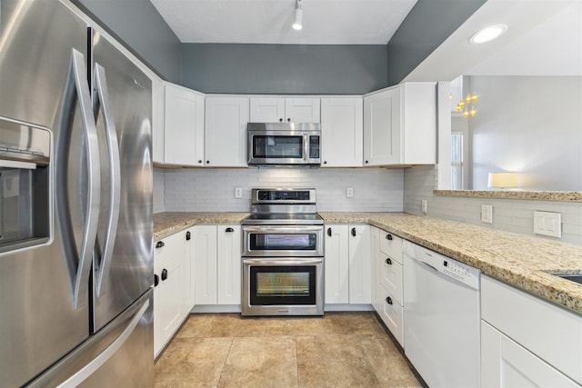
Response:
[{"label": "white two-door lower cabinet immediately right of the double oven", "polygon": [[326,303],[372,303],[369,225],[326,225]]}]

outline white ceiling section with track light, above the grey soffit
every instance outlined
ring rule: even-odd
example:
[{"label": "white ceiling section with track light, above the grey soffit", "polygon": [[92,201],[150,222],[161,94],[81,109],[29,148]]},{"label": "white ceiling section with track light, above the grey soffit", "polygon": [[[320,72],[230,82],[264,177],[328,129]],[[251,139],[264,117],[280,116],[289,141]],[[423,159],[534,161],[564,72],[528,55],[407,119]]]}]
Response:
[{"label": "white ceiling section with track light, above the grey soffit", "polygon": [[182,43],[386,45],[416,0],[150,0]]}]

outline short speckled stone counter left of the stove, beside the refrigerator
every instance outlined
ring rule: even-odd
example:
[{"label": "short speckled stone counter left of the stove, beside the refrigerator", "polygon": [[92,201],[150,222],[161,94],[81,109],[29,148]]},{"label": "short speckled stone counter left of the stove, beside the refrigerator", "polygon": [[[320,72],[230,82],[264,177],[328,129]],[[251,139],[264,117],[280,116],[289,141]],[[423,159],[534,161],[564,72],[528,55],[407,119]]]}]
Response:
[{"label": "short speckled stone counter left of the stove, beside the refrigerator", "polygon": [[248,213],[165,212],[154,214],[154,241],[196,224],[240,224]]}]

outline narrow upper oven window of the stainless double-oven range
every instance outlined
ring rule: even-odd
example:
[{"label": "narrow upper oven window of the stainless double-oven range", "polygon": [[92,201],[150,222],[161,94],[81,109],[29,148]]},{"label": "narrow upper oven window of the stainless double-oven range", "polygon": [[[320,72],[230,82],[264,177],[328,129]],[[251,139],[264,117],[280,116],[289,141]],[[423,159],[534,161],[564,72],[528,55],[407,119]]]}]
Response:
[{"label": "narrow upper oven window of the stainless double-oven range", "polygon": [[315,251],[316,233],[250,234],[251,251]]}]

